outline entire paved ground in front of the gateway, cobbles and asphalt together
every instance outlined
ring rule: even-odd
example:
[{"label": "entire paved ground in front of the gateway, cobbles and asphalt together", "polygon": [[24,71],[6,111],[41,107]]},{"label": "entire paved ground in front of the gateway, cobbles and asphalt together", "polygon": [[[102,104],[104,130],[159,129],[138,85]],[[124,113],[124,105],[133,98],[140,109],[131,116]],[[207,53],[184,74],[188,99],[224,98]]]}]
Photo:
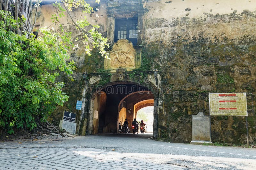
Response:
[{"label": "entire paved ground in front of the gateway, cobbles and asphalt together", "polygon": [[256,149],[104,134],[0,142],[0,169],[256,169]]}]

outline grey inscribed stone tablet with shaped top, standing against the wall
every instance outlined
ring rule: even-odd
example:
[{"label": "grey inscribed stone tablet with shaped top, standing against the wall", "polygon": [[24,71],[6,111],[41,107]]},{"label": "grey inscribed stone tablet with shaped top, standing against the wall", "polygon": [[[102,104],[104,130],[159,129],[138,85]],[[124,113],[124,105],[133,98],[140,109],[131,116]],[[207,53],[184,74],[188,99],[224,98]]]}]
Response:
[{"label": "grey inscribed stone tablet with shaped top, standing against the wall", "polygon": [[[192,141],[211,141],[210,116],[204,116],[203,112],[192,115]],[[200,142],[199,142],[200,143]]]}]

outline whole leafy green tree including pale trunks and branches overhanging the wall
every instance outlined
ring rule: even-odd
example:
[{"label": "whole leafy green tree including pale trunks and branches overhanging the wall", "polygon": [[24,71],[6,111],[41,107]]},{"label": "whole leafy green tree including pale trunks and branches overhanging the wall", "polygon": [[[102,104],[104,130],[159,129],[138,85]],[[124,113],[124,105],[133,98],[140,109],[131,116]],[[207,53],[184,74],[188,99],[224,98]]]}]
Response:
[{"label": "whole leafy green tree including pale trunks and branches overhanging the wall", "polygon": [[[38,3],[39,0],[34,16]],[[53,6],[52,28],[42,28],[35,39],[31,34],[36,22],[36,17],[31,19],[32,0],[0,0],[0,127],[9,134],[14,129],[34,129],[57,105],[63,106],[68,100],[61,92],[64,83],[55,80],[60,72],[73,79],[70,75],[75,69],[74,62],[66,62],[70,48],[83,48],[88,55],[97,48],[108,58],[107,39],[98,33],[99,26],[91,25],[86,18],[72,18],[69,13],[76,8],[91,13],[94,9],[89,4],[84,0],[62,0]],[[63,29],[59,18],[64,13],[79,30],[79,38],[72,39],[72,33]],[[82,40],[83,47],[73,44],[78,40]]]}]

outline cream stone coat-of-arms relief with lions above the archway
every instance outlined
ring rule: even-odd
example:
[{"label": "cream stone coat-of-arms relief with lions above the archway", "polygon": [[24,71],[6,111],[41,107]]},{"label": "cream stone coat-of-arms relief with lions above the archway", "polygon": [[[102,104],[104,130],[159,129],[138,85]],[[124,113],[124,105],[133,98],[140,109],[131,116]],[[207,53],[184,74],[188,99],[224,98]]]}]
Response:
[{"label": "cream stone coat-of-arms relief with lions above the archway", "polygon": [[111,66],[135,66],[135,54],[136,51],[132,46],[132,42],[126,39],[120,39],[114,44],[111,50]]}]

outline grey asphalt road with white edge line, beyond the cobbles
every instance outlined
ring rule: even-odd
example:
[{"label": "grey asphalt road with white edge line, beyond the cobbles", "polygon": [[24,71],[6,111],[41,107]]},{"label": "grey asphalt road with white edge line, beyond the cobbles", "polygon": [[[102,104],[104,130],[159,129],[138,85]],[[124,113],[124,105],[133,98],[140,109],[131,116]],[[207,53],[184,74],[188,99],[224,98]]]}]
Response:
[{"label": "grey asphalt road with white edge line, beyond the cobbles", "polygon": [[[0,144],[0,154],[3,153],[3,150],[11,152],[19,151],[19,149],[26,151],[37,148],[37,150],[43,149],[49,152],[55,149],[56,152],[59,152],[57,149],[76,148],[76,153],[85,156],[92,154],[86,152],[90,149],[95,150],[98,155],[105,154],[104,159],[105,157],[113,157],[113,155],[117,158],[122,157],[122,160],[129,159],[126,169],[134,169],[129,168],[129,165],[136,165],[136,160],[145,160],[148,163],[159,165],[158,167],[170,165],[166,169],[179,169],[178,167],[181,169],[256,169],[255,148],[168,143],[148,139],[150,137],[152,134],[101,134],[67,138],[60,141],[4,142]],[[40,150],[40,152],[42,151]],[[142,166],[142,163],[139,165]],[[156,165],[153,165],[154,168],[152,169],[156,169]]]}]

